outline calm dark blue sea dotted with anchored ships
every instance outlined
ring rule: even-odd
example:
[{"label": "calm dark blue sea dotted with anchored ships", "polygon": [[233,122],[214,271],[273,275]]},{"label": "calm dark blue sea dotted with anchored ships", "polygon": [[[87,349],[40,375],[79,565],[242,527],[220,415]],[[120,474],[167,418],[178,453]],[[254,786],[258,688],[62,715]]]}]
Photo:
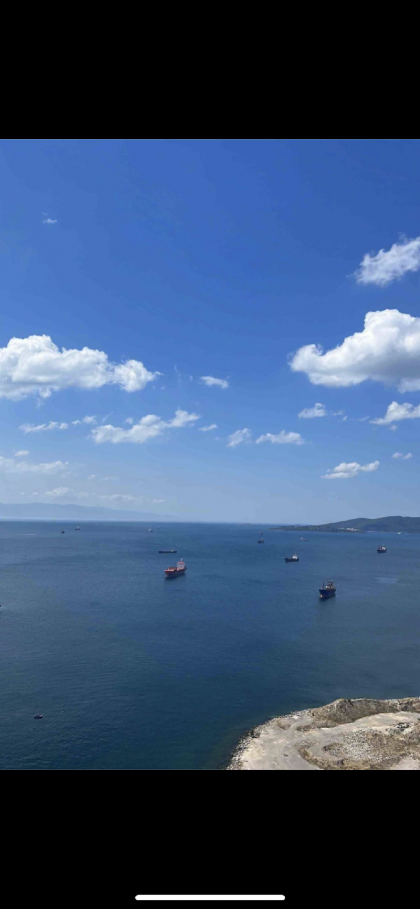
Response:
[{"label": "calm dark blue sea dotted with anchored ships", "polygon": [[419,536],[62,526],[0,524],[2,770],[221,769],[271,716],[420,694]]}]

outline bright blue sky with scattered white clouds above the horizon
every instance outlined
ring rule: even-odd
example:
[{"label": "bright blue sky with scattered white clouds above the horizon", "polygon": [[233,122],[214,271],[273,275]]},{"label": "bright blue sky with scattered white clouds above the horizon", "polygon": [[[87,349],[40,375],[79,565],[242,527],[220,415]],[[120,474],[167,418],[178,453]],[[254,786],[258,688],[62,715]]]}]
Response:
[{"label": "bright blue sky with scattered white clouds above the horizon", "polygon": [[419,179],[417,139],[1,140],[0,501],[418,514]]}]

